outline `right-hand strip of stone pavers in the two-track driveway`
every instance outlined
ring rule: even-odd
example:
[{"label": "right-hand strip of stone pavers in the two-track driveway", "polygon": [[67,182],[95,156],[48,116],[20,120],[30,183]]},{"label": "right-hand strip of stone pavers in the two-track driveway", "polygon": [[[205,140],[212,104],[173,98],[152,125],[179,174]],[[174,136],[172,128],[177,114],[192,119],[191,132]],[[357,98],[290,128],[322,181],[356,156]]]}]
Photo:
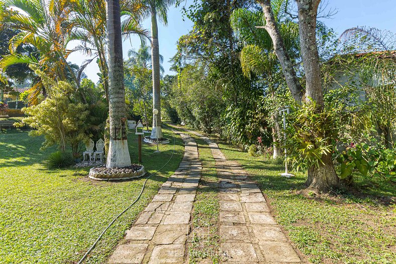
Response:
[{"label": "right-hand strip of stone pavers in the two-track driveway", "polygon": [[261,190],[248,173],[210,146],[220,179],[220,247],[226,263],[303,263],[269,212]]}]

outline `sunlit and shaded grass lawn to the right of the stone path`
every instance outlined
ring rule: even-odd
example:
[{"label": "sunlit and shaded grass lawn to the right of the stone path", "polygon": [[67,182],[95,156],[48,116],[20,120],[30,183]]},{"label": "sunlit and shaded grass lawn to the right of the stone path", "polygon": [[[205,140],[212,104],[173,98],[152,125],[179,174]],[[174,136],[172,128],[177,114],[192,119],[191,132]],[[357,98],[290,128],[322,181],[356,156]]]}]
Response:
[{"label": "sunlit and shaded grass lawn to the right of the stone path", "polygon": [[381,203],[394,199],[393,186],[358,178],[357,186],[364,188],[359,197],[304,196],[299,191],[305,189],[305,173],[285,179],[279,177],[284,172],[281,162],[252,157],[221,142],[219,147],[259,183],[277,222],[310,262],[396,263],[396,207]]}]

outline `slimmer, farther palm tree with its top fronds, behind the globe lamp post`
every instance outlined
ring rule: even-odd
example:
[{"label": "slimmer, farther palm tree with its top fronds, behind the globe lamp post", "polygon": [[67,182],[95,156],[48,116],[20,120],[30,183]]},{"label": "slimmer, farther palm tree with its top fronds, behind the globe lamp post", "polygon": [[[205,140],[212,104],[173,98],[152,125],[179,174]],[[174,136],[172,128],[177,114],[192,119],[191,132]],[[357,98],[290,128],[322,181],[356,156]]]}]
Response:
[{"label": "slimmer, farther palm tree with its top fronds, behind the globe lamp post", "polygon": [[153,130],[151,138],[162,138],[161,129],[161,101],[160,101],[160,55],[158,43],[158,24],[159,20],[166,26],[168,24],[167,11],[175,0],[147,0],[146,6],[150,8],[151,14],[151,62],[153,70],[153,108],[158,109],[157,122],[153,116]]}]

